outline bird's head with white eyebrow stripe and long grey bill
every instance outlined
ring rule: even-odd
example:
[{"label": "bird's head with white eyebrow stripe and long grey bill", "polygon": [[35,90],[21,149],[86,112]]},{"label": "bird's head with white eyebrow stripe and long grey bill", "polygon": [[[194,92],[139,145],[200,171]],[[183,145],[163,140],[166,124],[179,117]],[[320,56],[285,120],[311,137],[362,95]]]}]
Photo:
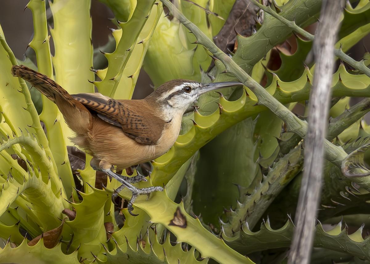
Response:
[{"label": "bird's head with white eyebrow stripe and long grey bill", "polygon": [[189,104],[198,99],[199,95],[220,88],[242,85],[241,82],[213,82],[210,84],[201,84],[200,82],[175,79],[165,82],[159,86],[149,97],[160,102],[166,107],[184,114]]}]

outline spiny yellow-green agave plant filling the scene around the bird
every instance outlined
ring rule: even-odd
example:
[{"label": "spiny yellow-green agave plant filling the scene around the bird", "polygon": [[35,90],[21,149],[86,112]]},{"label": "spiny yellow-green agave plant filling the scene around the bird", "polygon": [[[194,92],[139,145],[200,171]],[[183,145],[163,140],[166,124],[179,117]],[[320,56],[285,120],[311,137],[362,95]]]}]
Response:
[{"label": "spiny yellow-green agave plant filling the scene around the bird", "polygon": [[[27,4],[36,61],[17,60],[0,30],[0,263],[284,261],[295,229],[287,214],[294,216],[297,204],[315,68],[303,64],[314,39],[303,28],[316,23],[322,0],[275,0],[271,7],[251,1],[256,31],[236,34],[236,44],[219,39],[233,27],[230,20],[243,1],[176,0],[174,7],[163,0],[174,16],[165,15],[162,1],[100,1],[113,11],[116,25],[114,51],[101,48],[108,61],[102,69],[93,65],[89,0]],[[370,260],[364,237],[370,129],[363,118],[370,101],[349,107],[350,97],[369,96],[370,70],[366,60],[346,54],[370,31],[370,2],[351,2],[336,44],[341,61],[333,74],[312,263]],[[288,39],[296,51],[283,53]],[[232,48],[220,50],[215,43]],[[175,145],[151,162],[150,180],[137,184],[165,186],[164,192],[139,197],[139,215],[131,216],[124,202],[117,207],[110,199],[119,183],[96,173],[88,165],[91,157],[73,147],[56,105],[44,97],[42,105],[32,100],[27,84],[10,74],[17,63],[54,78],[71,94],[96,87],[119,99],[132,97],[141,68],[155,87],[175,78],[238,79],[246,86],[199,98],[195,111],[184,116]],[[299,106],[300,118],[293,114]],[[131,193],[120,196],[129,199]]]}]

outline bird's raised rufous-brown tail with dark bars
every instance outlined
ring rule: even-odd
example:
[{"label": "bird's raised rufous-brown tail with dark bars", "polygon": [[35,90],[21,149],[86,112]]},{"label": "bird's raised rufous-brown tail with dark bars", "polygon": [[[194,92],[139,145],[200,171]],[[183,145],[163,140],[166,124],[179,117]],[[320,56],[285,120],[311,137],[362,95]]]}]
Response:
[{"label": "bird's raised rufous-brown tail with dark bars", "polygon": [[14,65],[10,72],[13,76],[28,81],[41,94],[54,102],[63,114],[65,122],[73,131],[80,134],[87,133],[87,129],[90,128],[92,123],[90,111],[68,94],[59,84],[46,75],[24,65]]}]

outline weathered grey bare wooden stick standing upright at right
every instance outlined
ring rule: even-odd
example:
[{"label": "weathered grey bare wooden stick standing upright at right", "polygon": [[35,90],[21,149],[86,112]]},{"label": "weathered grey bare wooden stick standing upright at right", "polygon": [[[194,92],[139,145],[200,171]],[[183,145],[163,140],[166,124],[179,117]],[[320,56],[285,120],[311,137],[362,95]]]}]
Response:
[{"label": "weathered grey bare wooden stick standing upright at right", "polygon": [[305,146],[305,171],[296,214],[296,230],[288,264],[308,264],[312,251],[314,222],[321,196],[324,138],[327,132],[330,87],[334,70],[334,44],[339,30],[343,0],[323,0],[313,51],[316,68],[309,103]]}]

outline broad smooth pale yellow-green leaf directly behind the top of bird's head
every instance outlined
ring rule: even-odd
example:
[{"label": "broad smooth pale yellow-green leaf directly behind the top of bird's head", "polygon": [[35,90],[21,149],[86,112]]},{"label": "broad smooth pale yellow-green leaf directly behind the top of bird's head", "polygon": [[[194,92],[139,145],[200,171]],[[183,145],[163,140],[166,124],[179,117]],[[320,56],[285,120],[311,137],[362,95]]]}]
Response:
[{"label": "broad smooth pale yellow-green leaf directly behind the top of bird's head", "polygon": [[[201,0],[197,4],[205,7],[207,2]],[[194,23],[206,35],[212,37],[206,13],[202,9],[186,1],[179,1],[179,7],[194,19]],[[203,47],[197,47],[194,41],[194,35],[176,18],[169,20],[164,14],[161,15],[144,60],[144,70],[156,87],[171,79],[200,81],[200,68],[206,69],[211,57]]]}]

